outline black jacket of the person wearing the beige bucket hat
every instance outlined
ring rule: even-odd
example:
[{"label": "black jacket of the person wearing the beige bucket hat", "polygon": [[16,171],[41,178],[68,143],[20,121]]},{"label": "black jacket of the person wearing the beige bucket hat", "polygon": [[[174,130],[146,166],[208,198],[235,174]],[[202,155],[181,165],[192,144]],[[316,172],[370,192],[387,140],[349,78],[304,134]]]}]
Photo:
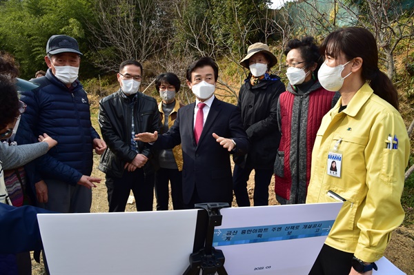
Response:
[{"label": "black jacket of the person wearing the beige bucket hat", "polygon": [[244,167],[248,161],[253,168],[273,169],[280,132],[277,126],[277,99],[285,91],[279,77],[267,76],[257,85],[250,78],[240,88],[237,107],[242,111],[243,128],[250,140],[246,158],[236,157],[235,163]]}]

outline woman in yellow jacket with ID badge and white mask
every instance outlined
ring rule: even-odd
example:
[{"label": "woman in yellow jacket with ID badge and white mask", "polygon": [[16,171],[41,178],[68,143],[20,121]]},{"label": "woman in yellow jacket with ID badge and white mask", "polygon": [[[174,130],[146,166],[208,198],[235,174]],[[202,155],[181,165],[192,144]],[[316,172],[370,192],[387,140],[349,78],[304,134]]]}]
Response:
[{"label": "woman in yellow jacket with ID badge and white mask", "polygon": [[[400,198],[408,135],[397,90],[378,68],[371,32],[339,29],[326,37],[321,51],[325,62],[318,79],[341,98],[317,132],[306,203],[336,197],[344,205],[310,274],[372,274],[404,219]],[[335,172],[329,169],[333,161]]]}]

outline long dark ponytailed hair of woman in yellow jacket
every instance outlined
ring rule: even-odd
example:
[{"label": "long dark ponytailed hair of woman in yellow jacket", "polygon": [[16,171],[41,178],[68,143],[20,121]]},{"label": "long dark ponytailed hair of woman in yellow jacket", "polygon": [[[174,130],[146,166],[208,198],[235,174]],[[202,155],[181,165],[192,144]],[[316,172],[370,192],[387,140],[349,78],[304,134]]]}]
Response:
[{"label": "long dark ponytailed hair of woman in yellow jacket", "polygon": [[362,78],[368,81],[374,94],[394,106],[398,110],[398,92],[384,72],[378,68],[378,48],[373,34],[364,28],[349,27],[331,32],[320,46],[321,54],[331,57],[345,54],[347,60],[361,57]]}]

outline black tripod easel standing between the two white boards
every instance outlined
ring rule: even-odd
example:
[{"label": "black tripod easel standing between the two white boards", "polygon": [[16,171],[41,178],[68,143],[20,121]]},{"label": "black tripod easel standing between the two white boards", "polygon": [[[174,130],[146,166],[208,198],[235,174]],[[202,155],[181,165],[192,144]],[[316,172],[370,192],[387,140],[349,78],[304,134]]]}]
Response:
[{"label": "black tripod easel standing between the two white boards", "polygon": [[219,275],[227,275],[224,268],[224,254],[221,250],[213,247],[214,227],[221,225],[223,216],[220,214],[220,209],[224,207],[228,207],[228,203],[199,203],[195,205],[195,208],[202,208],[208,212],[206,242],[204,248],[190,255],[190,266],[187,267],[184,275],[198,275],[200,269],[203,270],[203,275],[214,275],[216,272]]}]

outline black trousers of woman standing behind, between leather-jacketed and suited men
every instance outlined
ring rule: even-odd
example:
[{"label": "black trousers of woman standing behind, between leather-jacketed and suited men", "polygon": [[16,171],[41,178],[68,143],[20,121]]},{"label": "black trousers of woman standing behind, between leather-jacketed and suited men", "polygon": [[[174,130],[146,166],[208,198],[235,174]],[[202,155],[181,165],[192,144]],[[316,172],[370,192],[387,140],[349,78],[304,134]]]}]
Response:
[{"label": "black trousers of woman standing behind, between leather-jacketed and suited men", "polygon": [[183,205],[183,177],[178,169],[159,168],[155,172],[155,197],[157,198],[157,210],[168,210],[170,192],[168,183],[171,184],[171,200],[174,210],[184,209]]}]

